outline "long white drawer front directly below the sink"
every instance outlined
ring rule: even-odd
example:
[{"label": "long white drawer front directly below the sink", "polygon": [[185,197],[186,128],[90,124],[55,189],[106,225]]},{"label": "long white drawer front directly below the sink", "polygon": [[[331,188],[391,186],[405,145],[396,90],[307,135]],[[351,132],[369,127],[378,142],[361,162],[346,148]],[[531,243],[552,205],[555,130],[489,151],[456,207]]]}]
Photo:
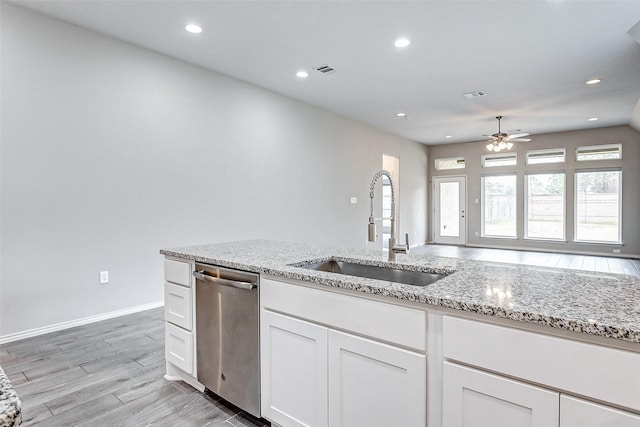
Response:
[{"label": "long white drawer front directly below the sink", "polygon": [[343,295],[330,290],[262,279],[260,304],[337,329],[344,329],[425,353],[427,313]]}]

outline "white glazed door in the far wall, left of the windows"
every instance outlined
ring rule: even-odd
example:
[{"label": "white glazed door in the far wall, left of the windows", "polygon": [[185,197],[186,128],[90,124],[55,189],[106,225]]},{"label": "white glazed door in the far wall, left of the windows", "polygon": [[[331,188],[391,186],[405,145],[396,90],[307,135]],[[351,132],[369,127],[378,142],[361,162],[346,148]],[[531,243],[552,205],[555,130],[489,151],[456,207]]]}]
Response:
[{"label": "white glazed door in the far wall, left of the windows", "polygon": [[450,245],[467,243],[467,178],[433,178],[433,242]]}]

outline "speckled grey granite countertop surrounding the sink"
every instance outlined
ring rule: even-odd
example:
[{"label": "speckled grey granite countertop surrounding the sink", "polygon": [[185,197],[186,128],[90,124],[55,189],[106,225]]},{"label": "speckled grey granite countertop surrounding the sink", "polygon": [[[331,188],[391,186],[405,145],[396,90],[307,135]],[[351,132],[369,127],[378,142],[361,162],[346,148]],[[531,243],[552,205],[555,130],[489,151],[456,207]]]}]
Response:
[{"label": "speckled grey granite countertop surrounding the sink", "polygon": [[[640,279],[560,268],[248,240],[184,248],[161,254],[415,301],[568,331],[640,343]],[[335,259],[432,273],[452,272],[428,286],[307,270],[291,264]]]}]

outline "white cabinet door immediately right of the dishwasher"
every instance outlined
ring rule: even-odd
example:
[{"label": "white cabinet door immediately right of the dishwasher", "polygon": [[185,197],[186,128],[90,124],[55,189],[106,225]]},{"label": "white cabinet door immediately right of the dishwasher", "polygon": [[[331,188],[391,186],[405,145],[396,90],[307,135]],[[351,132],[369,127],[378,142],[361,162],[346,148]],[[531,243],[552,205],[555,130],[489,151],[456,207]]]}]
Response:
[{"label": "white cabinet door immediately right of the dishwasher", "polygon": [[327,426],[327,329],[262,310],[262,416],[282,426]]}]

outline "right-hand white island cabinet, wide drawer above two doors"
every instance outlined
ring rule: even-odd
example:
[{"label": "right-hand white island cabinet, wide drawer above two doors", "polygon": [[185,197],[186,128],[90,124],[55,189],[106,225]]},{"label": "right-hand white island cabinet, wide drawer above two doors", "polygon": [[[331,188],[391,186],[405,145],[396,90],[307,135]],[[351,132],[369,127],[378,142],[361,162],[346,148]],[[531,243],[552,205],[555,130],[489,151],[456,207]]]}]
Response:
[{"label": "right-hand white island cabinet, wide drawer above two doors", "polygon": [[640,427],[640,353],[453,316],[442,352],[447,427]]}]

